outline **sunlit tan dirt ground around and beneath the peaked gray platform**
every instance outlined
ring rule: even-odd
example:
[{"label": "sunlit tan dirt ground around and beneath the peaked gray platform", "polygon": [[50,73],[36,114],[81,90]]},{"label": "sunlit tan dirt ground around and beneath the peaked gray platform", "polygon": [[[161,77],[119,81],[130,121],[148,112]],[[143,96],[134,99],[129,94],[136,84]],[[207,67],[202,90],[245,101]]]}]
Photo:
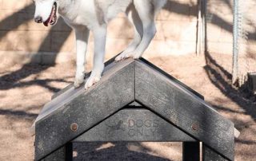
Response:
[{"label": "sunlit tan dirt ground around and beneath the peaked gray platform", "polygon": [[[158,57],[149,61],[201,93],[222,116],[234,122],[241,132],[235,144],[236,160],[256,160],[255,97],[232,88],[229,65],[219,65],[215,58],[190,55]],[[230,57],[222,56],[221,59]],[[0,69],[0,160],[34,159],[34,137],[29,135],[29,128],[43,104],[50,101],[50,96],[73,80],[74,63],[14,65]],[[86,156],[83,160],[181,160],[181,155],[181,143],[74,146],[75,160],[82,160],[82,156]]]}]

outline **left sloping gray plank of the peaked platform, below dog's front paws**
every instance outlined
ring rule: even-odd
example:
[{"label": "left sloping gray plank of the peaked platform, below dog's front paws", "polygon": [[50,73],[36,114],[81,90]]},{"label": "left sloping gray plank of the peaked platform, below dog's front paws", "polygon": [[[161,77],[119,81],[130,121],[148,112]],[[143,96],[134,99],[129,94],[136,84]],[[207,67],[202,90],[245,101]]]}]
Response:
[{"label": "left sloping gray plank of the peaked platform, below dog's front paws", "polygon": [[[36,123],[36,160],[49,155],[134,101],[134,61],[116,63],[106,71],[101,81],[86,91],[84,88],[70,90],[78,90],[73,100],[70,100],[70,96],[66,97],[65,93],[58,96],[52,100],[58,101],[57,107],[52,107],[48,115],[42,114],[44,116]],[[78,124],[76,132],[70,130],[73,123]]]}]

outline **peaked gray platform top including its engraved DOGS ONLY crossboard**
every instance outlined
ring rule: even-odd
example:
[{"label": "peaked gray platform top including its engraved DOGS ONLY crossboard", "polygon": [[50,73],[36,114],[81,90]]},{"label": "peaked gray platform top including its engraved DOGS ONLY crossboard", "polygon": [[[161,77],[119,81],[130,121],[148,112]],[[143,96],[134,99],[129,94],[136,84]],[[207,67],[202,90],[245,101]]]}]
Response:
[{"label": "peaked gray platform top including its engraved DOGS ONLY crossboard", "polygon": [[58,92],[40,112],[35,135],[35,160],[75,141],[202,142],[204,160],[234,160],[234,124],[144,59],[112,59],[89,90],[70,84]]}]

